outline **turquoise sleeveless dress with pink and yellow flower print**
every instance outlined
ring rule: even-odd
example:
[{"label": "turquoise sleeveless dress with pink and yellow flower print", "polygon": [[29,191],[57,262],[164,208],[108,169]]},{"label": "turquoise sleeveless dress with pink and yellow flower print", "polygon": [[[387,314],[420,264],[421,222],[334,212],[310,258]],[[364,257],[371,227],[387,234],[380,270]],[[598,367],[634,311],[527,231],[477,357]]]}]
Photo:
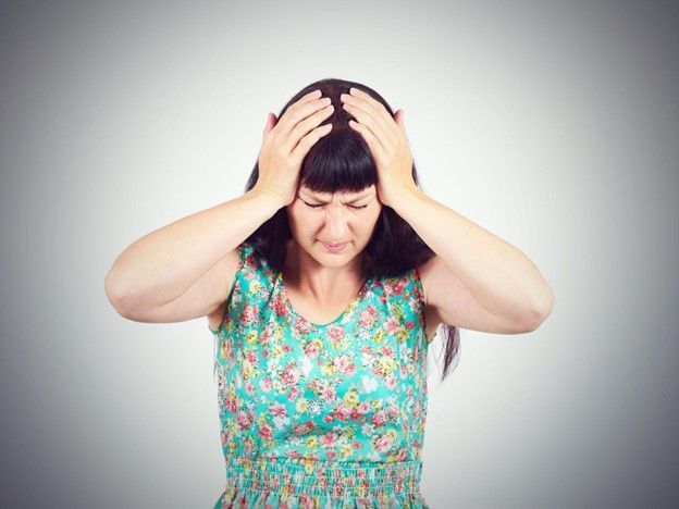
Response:
[{"label": "turquoise sleeveless dress with pink and yellow flower print", "polygon": [[[313,324],[247,244],[215,339],[225,488],[214,508],[428,508],[423,289],[369,277]],[[259,263],[261,264],[259,264]]]}]

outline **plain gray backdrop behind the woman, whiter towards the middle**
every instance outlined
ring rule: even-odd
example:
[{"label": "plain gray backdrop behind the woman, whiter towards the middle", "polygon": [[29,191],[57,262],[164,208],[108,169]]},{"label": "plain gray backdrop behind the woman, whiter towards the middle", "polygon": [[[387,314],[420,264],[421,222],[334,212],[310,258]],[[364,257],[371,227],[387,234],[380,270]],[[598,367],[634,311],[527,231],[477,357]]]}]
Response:
[{"label": "plain gray backdrop behind the woman, whiter towards the middle", "polygon": [[424,191],[556,296],[533,333],[462,330],[444,384],[431,347],[425,499],[676,505],[672,2],[248,3],[0,8],[0,504],[214,504],[207,320],[124,320],[103,277],[242,194],[267,113],[341,77],[405,109]]}]

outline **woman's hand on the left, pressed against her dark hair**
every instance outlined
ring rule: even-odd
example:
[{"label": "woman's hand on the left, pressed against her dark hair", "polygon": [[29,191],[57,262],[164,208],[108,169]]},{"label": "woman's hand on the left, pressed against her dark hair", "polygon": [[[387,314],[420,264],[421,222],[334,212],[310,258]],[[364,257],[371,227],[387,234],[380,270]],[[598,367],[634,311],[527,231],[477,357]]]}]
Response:
[{"label": "woman's hand on the left, pressed against her dark hair", "polygon": [[295,200],[301,162],[313,144],[332,131],[332,124],[318,125],[333,110],[330,98],[321,98],[321,91],[314,90],[291,104],[277,122],[269,113],[254,190],[274,196],[282,207]]}]

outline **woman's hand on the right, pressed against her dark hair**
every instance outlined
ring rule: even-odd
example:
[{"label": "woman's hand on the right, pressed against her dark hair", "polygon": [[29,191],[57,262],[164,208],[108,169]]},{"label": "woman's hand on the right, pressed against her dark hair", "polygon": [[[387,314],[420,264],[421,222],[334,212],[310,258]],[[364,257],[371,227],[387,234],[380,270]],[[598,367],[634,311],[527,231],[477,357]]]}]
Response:
[{"label": "woman's hand on the right, pressed against her dark hair", "polygon": [[419,190],[412,179],[412,154],[406,138],[403,110],[394,119],[380,101],[363,90],[350,88],[340,100],[344,109],[358,122],[349,120],[349,126],[361,134],[376,164],[378,197],[388,207],[404,193]]}]

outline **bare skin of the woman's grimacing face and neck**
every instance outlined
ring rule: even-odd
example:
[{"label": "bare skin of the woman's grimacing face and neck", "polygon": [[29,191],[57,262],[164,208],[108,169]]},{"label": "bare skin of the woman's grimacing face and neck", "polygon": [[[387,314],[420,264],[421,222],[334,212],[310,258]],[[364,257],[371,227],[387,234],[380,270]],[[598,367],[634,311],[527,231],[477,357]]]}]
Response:
[{"label": "bare skin of the woman's grimacing face and neck", "polygon": [[[382,207],[374,185],[358,193],[332,195],[300,186],[295,200],[286,207],[293,235],[283,270],[288,296],[297,296],[305,308],[320,312],[338,308],[336,314],[356,298],[367,275],[365,248]],[[333,253],[323,241],[348,244]]]}]

